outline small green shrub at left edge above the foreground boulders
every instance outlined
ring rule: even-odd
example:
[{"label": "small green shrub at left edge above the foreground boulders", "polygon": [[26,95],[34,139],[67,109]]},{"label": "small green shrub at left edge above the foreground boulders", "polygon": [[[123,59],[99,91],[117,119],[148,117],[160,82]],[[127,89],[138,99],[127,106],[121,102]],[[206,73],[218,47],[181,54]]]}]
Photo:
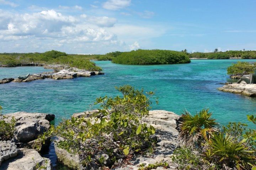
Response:
[{"label": "small green shrub at left edge above the foreground boulders", "polygon": [[14,137],[16,120],[14,117],[7,119],[1,111],[0,106],[0,141],[11,140]]}]

